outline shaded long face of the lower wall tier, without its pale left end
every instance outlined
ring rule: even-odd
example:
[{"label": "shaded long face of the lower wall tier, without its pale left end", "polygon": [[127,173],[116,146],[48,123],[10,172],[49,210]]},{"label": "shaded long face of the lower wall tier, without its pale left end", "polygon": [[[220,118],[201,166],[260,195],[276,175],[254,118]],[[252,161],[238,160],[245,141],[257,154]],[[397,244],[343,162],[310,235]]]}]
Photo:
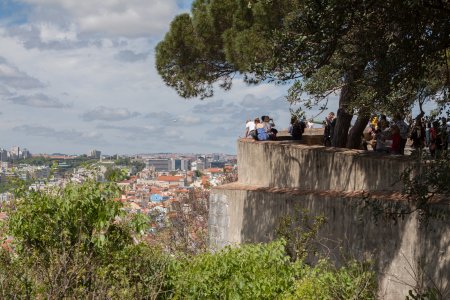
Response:
[{"label": "shaded long face of the lower wall tier, without its pale left end", "polygon": [[[326,217],[327,223],[319,232],[323,243],[319,250],[337,265],[350,258],[372,259],[380,285],[384,285],[383,289],[398,286],[394,290],[398,290],[399,297],[404,297],[421,280],[427,281],[426,277],[432,279],[441,290],[448,288],[449,232],[446,222],[434,220],[429,227],[419,229],[416,215],[410,215],[397,223],[376,220],[373,210],[364,207],[364,200],[360,198],[295,195],[289,192],[246,193],[241,230],[243,242],[273,240],[281,218],[298,212],[296,208],[301,207],[309,211],[311,217]],[[386,208],[389,205],[407,204],[390,201]],[[424,264],[421,269],[426,275],[424,278],[411,275],[418,274],[418,261]]]}]

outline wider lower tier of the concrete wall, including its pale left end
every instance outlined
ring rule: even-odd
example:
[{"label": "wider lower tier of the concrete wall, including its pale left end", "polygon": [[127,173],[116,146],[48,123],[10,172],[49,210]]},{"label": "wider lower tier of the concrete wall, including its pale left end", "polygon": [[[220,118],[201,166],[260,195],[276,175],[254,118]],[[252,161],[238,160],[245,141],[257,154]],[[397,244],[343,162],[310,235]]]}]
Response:
[{"label": "wider lower tier of the concrete wall, including its pale left end", "polygon": [[[397,201],[398,194],[380,193],[374,197],[384,200],[387,206],[407,205]],[[341,253],[374,260],[380,299],[404,299],[411,286],[419,281],[412,274],[423,273],[440,287],[449,286],[448,217],[432,218],[422,227],[417,214],[397,224],[375,221],[374,211],[364,207],[358,193],[264,188],[239,183],[216,188],[210,198],[211,246],[222,248],[229,244],[273,240],[280,218],[298,213],[299,207],[306,208],[312,216],[327,218],[320,232],[322,251],[335,262],[342,261]],[[450,215],[448,204],[436,205],[436,209]]]}]

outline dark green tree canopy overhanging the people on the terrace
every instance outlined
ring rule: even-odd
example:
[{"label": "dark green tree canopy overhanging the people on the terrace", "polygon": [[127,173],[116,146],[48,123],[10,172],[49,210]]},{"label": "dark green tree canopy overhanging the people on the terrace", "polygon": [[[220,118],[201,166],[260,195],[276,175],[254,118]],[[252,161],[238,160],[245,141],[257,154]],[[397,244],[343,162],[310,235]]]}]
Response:
[{"label": "dark green tree canopy overhanging the people on the terrace", "polygon": [[353,113],[367,124],[420,97],[448,103],[449,15],[448,1],[196,0],[156,47],[156,66],[185,98],[229,89],[236,75],[291,84],[288,100],[306,107],[340,91],[334,144],[345,146]]}]

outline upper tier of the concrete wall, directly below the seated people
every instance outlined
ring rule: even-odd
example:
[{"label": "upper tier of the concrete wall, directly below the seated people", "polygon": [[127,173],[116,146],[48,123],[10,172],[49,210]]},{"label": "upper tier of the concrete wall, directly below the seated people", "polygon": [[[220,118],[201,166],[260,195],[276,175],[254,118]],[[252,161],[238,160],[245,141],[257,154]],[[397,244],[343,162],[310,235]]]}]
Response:
[{"label": "upper tier of the concrete wall, directly below the seated people", "polygon": [[307,146],[295,141],[238,141],[239,182],[307,190],[399,190],[408,157]]}]

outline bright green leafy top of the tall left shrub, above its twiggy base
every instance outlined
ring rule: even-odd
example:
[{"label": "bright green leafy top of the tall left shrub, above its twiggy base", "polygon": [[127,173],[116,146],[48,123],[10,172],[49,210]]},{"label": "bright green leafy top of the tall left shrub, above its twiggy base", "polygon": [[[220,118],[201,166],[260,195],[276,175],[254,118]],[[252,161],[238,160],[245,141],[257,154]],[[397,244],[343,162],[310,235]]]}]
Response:
[{"label": "bright green leafy top of the tall left shrub, above its twiggy base", "polygon": [[[123,215],[122,204],[112,200],[119,192],[115,185],[93,182],[68,185],[53,193],[22,191],[11,212],[10,233],[20,251],[48,251],[79,242],[99,250],[120,230],[115,218]],[[125,232],[121,238],[127,238]]]}]

